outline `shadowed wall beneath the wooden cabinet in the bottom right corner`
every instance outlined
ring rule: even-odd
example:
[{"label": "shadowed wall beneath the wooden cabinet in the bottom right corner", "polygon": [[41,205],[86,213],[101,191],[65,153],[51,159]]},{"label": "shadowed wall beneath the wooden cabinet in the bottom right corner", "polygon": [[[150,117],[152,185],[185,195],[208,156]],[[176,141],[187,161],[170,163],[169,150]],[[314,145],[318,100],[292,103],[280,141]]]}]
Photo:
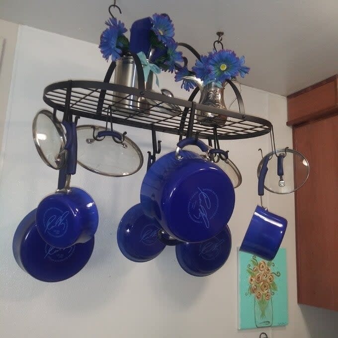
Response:
[{"label": "shadowed wall beneath the wooden cabinet in the bottom right corner", "polygon": [[311,338],[338,337],[338,312],[299,305]]}]

